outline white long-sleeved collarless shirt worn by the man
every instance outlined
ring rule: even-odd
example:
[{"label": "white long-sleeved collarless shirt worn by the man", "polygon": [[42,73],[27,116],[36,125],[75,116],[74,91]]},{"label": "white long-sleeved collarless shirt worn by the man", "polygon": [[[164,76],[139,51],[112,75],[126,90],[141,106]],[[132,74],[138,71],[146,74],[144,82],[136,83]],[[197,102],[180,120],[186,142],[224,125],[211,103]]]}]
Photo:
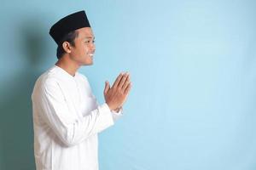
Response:
[{"label": "white long-sleeved collarless shirt worn by the man", "polygon": [[98,137],[122,115],[98,105],[84,75],[54,65],[32,92],[37,170],[98,170]]}]

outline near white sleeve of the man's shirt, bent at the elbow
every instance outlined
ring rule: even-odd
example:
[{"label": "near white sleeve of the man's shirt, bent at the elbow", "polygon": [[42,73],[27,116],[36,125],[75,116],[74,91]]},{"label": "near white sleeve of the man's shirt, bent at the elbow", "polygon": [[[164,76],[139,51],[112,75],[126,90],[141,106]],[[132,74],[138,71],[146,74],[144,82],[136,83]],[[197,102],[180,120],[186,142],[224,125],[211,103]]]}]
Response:
[{"label": "near white sleeve of the man's shirt, bent at the elbow", "polygon": [[79,144],[91,134],[100,133],[113,125],[112,112],[108,105],[98,105],[90,114],[77,119],[76,112],[70,112],[57,82],[47,81],[36,96],[40,115],[67,146]]}]

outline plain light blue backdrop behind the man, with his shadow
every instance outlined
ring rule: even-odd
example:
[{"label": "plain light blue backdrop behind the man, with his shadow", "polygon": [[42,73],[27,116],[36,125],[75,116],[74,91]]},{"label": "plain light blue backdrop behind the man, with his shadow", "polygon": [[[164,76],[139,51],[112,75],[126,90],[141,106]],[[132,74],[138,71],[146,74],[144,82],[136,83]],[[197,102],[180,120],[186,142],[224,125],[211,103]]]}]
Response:
[{"label": "plain light blue backdrop behind the man, with his shadow", "polygon": [[31,93],[54,65],[49,27],[85,9],[102,103],[129,71],[125,116],[100,134],[102,170],[256,169],[256,2],[14,1],[0,7],[0,169],[34,169]]}]

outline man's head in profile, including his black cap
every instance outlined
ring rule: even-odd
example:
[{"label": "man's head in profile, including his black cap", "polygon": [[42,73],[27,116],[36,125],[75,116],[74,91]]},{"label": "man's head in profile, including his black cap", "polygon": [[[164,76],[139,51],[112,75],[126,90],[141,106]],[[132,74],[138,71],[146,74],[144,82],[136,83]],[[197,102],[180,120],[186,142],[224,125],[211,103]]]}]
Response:
[{"label": "man's head in profile, including his black cap", "polygon": [[57,58],[68,57],[78,65],[91,65],[95,53],[94,35],[84,11],[69,14],[50,28],[58,44]]}]

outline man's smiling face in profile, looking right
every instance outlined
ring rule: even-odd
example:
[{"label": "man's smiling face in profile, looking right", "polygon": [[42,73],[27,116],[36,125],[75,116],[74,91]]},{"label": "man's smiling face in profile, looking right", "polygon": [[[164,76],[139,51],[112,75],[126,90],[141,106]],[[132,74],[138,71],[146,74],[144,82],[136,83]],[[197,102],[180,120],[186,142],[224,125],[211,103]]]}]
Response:
[{"label": "man's smiling face in profile, looking right", "polygon": [[92,65],[93,54],[96,47],[94,44],[94,35],[90,27],[84,27],[77,30],[79,36],[75,38],[75,46],[72,48],[70,56],[79,65]]}]

